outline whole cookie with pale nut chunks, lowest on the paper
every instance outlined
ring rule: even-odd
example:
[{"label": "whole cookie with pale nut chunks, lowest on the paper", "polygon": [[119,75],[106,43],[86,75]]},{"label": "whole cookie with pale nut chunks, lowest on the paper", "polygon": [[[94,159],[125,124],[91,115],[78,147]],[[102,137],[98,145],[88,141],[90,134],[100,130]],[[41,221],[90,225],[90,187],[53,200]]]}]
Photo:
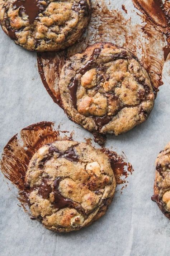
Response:
[{"label": "whole cookie with pale nut chunks, lowest on the paper", "polygon": [[32,216],[57,232],[79,230],[99,219],[116,187],[104,153],[68,140],[44,145],[33,155],[25,184]]}]

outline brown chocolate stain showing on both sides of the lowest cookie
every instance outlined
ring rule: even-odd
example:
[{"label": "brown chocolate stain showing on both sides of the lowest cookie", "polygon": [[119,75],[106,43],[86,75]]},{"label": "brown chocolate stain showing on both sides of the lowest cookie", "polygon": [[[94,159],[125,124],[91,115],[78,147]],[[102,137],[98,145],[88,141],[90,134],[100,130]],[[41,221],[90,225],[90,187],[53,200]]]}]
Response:
[{"label": "brown chocolate stain showing on both sides of the lowest cookie", "polygon": [[[28,210],[30,193],[29,186],[25,184],[25,174],[33,154],[44,144],[53,143],[56,140],[72,140],[73,134],[72,132],[70,135],[61,136],[60,131],[54,128],[53,122],[40,122],[22,129],[4,147],[0,162],[1,171],[5,178],[18,188],[18,199],[24,210]],[[127,183],[126,178],[133,171],[131,164],[126,162],[124,156],[119,156],[116,152],[108,149],[101,149],[101,151],[110,159],[117,184]],[[41,190],[42,193],[45,191],[48,197],[49,188],[46,180],[41,184]]]}]

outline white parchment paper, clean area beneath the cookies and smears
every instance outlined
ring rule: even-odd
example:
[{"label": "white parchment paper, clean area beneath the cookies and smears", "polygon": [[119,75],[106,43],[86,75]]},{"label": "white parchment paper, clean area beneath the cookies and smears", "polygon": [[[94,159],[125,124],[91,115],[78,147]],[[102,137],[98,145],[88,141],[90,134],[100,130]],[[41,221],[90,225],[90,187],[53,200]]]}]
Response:
[{"label": "white parchment paper, clean area beneath the cookies and smears", "polygon": [[[170,140],[169,64],[164,65],[164,85],[149,119],[126,134],[108,136],[106,147],[123,151],[134,172],[122,193],[117,187],[107,214],[93,225],[65,234],[43,228],[17,205],[16,188],[0,175],[0,255],[169,255],[170,221],[151,201],[154,162]],[[37,70],[36,53],[16,46],[0,30],[0,151],[14,134],[40,121],[55,121],[63,130],[74,130],[77,141],[92,138],[48,95]]]}]

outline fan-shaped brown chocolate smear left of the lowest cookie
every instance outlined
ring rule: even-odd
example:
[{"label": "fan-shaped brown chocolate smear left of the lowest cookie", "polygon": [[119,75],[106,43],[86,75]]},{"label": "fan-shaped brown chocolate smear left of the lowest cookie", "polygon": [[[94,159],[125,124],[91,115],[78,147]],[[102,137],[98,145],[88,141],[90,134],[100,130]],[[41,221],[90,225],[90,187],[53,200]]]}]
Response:
[{"label": "fan-shaped brown chocolate smear left of the lowest cookie", "polygon": [[[54,129],[53,122],[40,122],[22,129],[20,136],[14,135],[4,147],[0,161],[1,171],[18,188],[18,199],[25,210],[29,206],[30,188],[25,184],[25,174],[30,159],[43,145],[56,140],[72,140],[72,133],[70,136],[60,136],[60,132]],[[65,156],[74,158],[72,150],[66,152]],[[39,194],[48,197],[49,193],[51,188],[48,186],[48,179],[44,179],[39,186]]]}]

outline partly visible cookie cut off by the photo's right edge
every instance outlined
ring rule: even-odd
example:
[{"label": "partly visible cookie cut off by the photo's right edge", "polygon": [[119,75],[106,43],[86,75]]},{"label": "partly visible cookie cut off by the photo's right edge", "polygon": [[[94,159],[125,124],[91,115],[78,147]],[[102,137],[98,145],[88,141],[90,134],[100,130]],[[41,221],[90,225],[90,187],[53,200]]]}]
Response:
[{"label": "partly visible cookie cut off by the photo's right edge", "polygon": [[170,142],[156,159],[156,176],[152,201],[170,219]]}]

